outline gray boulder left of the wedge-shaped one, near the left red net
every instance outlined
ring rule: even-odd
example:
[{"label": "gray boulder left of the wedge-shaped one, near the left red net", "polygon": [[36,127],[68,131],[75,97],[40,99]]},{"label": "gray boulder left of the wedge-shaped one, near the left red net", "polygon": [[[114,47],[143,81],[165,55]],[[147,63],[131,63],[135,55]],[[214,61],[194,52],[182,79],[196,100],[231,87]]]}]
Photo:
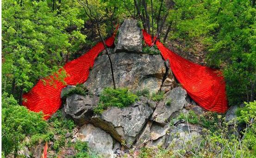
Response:
[{"label": "gray boulder left of the wedge-shaped one, near the left red net", "polygon": [[96,96],[73,94],[66,98],[64,112],[71,116],[76,124],[83,125],[93,116],[93,109],[98,106],[98,102],[99,97]]}]

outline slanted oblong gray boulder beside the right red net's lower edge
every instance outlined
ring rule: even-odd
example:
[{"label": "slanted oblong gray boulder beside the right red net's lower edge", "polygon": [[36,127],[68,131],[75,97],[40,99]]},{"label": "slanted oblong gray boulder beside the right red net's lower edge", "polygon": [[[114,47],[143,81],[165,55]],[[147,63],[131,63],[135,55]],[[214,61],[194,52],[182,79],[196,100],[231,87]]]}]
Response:
[{"label": "slanted oblong gray boulder beside the right red net's lower edge", "polygon": [[[167,93],[167,97],[159,102],[151,117],[151,120],[158,122],[164,126],[176,111],[181,110],[186,104],[187,92],[176,87]],[[168,104],[168,102],[170,104]]]}]

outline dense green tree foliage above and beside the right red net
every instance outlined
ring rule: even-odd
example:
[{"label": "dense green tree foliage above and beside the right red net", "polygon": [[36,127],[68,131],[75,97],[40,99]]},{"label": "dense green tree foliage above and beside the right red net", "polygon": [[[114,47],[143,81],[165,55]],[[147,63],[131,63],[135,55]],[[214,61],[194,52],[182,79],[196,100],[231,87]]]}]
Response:
[{"label": "dense green tree foliage above and beside the right red net", "polygon": [[249,0],[175,0],[167,20],[178,49],[204,51],[207,65],[224,71],[230,105],[254,100],[256,8]]}]

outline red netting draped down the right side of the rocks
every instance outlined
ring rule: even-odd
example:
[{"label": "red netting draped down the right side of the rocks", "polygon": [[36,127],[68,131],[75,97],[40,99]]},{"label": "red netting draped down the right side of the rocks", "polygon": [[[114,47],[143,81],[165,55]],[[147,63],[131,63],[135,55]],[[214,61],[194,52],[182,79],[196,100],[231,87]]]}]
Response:
[{"label": "red netting draped down the right side of the rocks", "polygon": [[[151,36],[144,30],[143,36],[145,43],[152,45]],[[210,111],[225,112],[228,109],[222,72],[188,61],[159,41],[156,41],[156,46],[164,60],[169,60],[176,79],[196,103]]]}]

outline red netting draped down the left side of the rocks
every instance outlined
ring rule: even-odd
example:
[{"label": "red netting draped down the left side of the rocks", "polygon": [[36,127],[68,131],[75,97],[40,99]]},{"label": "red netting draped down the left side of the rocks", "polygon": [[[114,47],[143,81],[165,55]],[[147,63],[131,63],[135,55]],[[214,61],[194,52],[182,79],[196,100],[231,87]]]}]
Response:
[{"label": "red netting draped down the left side of the rocks", "polygon": [[[106,45],[108,47],[113,45],[114,36],[115,34],[106,40]],[[93,67],[94,65],[95,58],[103,50],[104,45],[100,42],[81,57],[66,63],[63,68],[68,75],[64,79],[67,85],[84,83],[89,76],[90,67]],[[50,78],[53,79],[53,76],[50,76]],[[49,84],[51,79],[45,78],[44,80],[47,84],[44,84],[42,80],[39,80],[31,91],[23,95],[23,105],[31,111],[43,111],[45,115],[44,118],[48,119],[60,108],[62,103],[60,94],[62,88],[67,85],[63,85],[62,82],[57,80],[54,80],[53,84]]]}]

